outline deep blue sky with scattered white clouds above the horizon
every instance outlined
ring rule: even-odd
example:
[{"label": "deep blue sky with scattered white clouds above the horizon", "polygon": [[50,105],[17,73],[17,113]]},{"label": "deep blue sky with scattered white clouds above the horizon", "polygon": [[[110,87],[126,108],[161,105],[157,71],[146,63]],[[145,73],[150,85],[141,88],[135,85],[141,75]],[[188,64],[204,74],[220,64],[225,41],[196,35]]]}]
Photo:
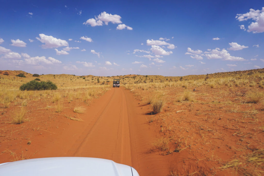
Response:
[{"label": "deep blue sky with scattered white clouds above the horizon", "polygon": [[0,3],[0,70],[183,76],[264,68],[264,1]]}]

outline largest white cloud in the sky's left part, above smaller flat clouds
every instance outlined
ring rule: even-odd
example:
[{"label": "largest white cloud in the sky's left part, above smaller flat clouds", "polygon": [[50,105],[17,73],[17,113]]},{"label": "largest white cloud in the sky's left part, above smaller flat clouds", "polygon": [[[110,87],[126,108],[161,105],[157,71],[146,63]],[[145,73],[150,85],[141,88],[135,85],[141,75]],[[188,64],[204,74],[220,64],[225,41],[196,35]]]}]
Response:
[{"label": "largest white cloud in the sky's left part, above smaller flat clouds", "polygon": [[42,48],[57,48],[60,46],[69,46],[68,42],[66,40],[57,39],[53,36],[48,36],[45,34],[39,34],[39,37],[36,37],[37,40],[39,40],[41,43],[45,43],[45,45],[41,45]]}]

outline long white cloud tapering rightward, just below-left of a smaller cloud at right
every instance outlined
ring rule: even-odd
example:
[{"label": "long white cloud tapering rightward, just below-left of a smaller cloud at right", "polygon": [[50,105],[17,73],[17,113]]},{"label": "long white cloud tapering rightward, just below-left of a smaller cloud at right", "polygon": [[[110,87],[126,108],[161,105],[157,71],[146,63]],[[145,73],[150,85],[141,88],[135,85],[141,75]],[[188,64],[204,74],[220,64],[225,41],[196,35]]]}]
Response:
[{"label": "long white cloud tapering rightward, just below-left of a smaller cloud at right", "polygon": [[205,56],[208,59],[222,59],[222,60],[230,60],[230,61],[244,61],[246,59],[241,58],[241,57],[235,57],[235,56],[230,56],[227,50],[222,49],[220,50],[219,48],[216,49],[209,49],[208,51],[204,52],[206,53]]}]

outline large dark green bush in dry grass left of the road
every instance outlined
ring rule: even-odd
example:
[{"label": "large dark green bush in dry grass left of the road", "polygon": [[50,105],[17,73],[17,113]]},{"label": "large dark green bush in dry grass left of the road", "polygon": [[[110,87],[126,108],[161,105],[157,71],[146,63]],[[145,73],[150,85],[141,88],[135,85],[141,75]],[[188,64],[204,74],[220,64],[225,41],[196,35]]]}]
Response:
[{"label": "large dark green bush in dry grass left of the road", "polygon": [[32,80],[26,84],[23,84],[20,86],[19,88],[21,91],[42,91],[42,90],[56,90],[57,86],[52,83],[51,81],[41,81],[41,82],[37,82],[35,80]]}]

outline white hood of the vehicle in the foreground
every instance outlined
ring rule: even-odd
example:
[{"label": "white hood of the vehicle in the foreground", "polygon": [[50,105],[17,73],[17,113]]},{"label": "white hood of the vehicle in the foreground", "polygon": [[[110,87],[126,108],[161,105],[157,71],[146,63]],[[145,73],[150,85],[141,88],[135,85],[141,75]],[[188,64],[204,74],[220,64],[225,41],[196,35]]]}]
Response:
[{"label": "white hood of the vehicle in the foreground", "polygon": [[108,175],[139,176],[128,165],[87,157],[36,158],[0,164],[0,175]]}]

